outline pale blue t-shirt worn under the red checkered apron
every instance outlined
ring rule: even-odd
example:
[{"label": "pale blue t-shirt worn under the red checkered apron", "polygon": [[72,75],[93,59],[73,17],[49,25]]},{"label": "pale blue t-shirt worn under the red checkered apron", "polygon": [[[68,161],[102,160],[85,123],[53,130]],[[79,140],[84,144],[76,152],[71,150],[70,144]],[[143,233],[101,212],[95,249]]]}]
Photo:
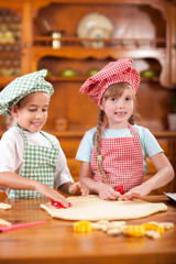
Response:
[{"label": "pale blue t-shirt worn under the red checkered apron", "polygon": [[[154,135],[148,131],[148,129],[134,124],[134,129],[140,138],[142,151],[143,151],[143,161],[144,161],[144,175],[147,173],[147,165],[146,165],[146,155],[152,157],[153,155],[163,152],[162,147],[158,145]],[[84,135],[79,148],[76,154],[76,160],[82,162],[91,162],[91,154],[96,141],[96,132],[97,128],[92,128],[86,132]],[[122,130],[112,130],[112,129],[105,129],[102,138],[110,139],[110,138],[129,138],[132,136],[130,129],[122,129]]]}]

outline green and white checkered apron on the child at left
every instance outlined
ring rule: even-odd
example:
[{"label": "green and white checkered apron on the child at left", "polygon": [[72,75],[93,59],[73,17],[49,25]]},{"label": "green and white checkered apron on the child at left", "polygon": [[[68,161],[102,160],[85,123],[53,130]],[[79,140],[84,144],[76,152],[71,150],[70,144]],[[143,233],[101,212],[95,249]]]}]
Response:
[{"label": "green and white checkered apron on the child at left", "polygon": [[[28,142],[24,131],[16,125],[24,140],[24,164],[21,170],[21,176],[42,182],[53,188],[54,174],[56,172],[56,161],[58,148],[55,143],[45,132],[42,133],[52,144],[52,147],[31,145]],[[29,189],[10,189],[8,198],[37,198],[43,197],[35,190]]]}]

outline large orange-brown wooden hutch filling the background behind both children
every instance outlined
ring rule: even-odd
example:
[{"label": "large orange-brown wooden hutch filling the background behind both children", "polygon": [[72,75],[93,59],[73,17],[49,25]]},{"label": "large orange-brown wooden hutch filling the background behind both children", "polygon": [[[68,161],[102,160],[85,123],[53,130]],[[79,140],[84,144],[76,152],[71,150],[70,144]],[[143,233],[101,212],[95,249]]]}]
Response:
[{"label": "large orange-brown wooden hutch filling the background behind both children", "polygon": [[[90,40],[78,34],[82,18],[92,13],[111,21],[111,37]],[[98,116],[97,106],[78,90],[90,70],[121,57],[131,57],[140,73],[155,73],[141,78],[138,124],[153,132],[176,168],[176,132],[167,127],[167,98],[176,94],[176,1],[6,0],[0,1],[0,88],[16,76],[48,69],[55,94],[44,129],[58,138],[76,180],[77,147],[85,131],[97,124]],[[53,32],[58,33],[56,38]],[[53,46],[54,40],[57,46]],[[96,41],[102,45],[95,46]],[[76,76],[63,76],[68,68]],[[58,119],[67,122],[65,131],[56,130]],[[1,134],[4,123],[2,118]],[[148,161],[147,177],[154,173]],[[175,180],[155,194],[163,190],[176,191]]]}]

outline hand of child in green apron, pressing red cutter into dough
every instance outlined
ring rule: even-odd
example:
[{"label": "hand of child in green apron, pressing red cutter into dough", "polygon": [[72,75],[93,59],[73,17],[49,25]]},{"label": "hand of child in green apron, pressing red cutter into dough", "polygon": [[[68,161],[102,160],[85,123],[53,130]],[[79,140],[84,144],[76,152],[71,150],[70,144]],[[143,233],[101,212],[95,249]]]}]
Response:
[{"label": "hand of child in green apron, pressing red cutter into dough", "polygon": [[41,182],[36,182],[35,190],[38,194],[47,197],[48,199],[54,200],[54,201],[58,201],[64,207],[68,207],[68,202],[67,202],[66,198],[63,195],[61,195],[57,190],[54,190],[54,189],[50,188],[47,185],[44,185]]}]

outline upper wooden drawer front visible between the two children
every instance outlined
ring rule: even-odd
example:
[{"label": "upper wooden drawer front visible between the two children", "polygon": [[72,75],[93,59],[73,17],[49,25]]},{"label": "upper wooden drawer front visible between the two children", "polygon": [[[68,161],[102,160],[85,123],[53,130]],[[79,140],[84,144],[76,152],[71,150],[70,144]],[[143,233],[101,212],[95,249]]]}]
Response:
[{"label": "upper wooden drawer front visible between the two children", "polygon": [[78,140],[59,140],[61,146],[63,148],[66,157],[75,157],[80,141]]}]

